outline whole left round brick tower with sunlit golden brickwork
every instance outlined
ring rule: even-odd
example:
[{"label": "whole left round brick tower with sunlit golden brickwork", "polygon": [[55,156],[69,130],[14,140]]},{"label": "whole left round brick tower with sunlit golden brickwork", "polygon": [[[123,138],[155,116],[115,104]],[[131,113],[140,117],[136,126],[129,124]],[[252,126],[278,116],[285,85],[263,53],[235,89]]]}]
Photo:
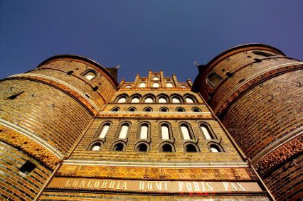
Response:
[{"label": "whole left round brick tower with sunlit golden brickwork", "polygon": [[57,55],[0,82],[0,200],[34,200],[117,89],[117,69]]}]

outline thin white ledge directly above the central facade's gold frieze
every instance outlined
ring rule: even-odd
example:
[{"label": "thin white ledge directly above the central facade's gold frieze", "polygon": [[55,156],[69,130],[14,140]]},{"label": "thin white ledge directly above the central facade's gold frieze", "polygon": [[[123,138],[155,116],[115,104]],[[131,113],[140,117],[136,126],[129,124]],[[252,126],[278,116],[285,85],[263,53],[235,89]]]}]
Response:
[{"label": "thin white ledge directly above the central facade's gold frieze", "polygon": [[77,161],[65,160],[63,165],[95,165],[122,167],[165,167],[165,168],[248,168],[248,163],[147,163],[147,162],[117,162],[117,161]]}]

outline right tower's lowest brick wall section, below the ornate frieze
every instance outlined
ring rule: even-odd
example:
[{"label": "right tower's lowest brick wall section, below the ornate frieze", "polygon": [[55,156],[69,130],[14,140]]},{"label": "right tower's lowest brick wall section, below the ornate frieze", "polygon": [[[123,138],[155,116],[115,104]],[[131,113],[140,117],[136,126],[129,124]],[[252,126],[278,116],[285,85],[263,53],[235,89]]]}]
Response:
[{"label": "right tower's lowest brick wall section, below the ornate frieze", "polygon": [[267,188],[276,200],[300,200],[303,197],[303,156],[297,156],[292,160],[280,165],[280,168],[265,179]]}]

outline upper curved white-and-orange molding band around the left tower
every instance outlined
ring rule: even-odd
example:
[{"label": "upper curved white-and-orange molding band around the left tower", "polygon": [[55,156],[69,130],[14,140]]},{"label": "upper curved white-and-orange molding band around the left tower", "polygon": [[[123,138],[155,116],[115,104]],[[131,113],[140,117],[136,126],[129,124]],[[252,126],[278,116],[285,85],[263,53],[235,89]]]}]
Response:
[{"label": "upper curved white-and-orange molding band around the left tower", "polygon": [[[23,74],[13,75],[8,78],[35,80],[51,85],[65,92],[65,94],[68,94],[70,97],[73,97],[76,101],[80,102],[80,104],[83,104],[92,114],[97,114],[99,110],[97,105],[95,105],[95,103],[93,103],[92,100],[86,97],[85,94],[83,94],[83,92],[80,92],[79,89],[76,89],[72,85],[63,82],[62,80],[55,79],[54,77],[49,77],[46,75],[40,75],[34,73],[23,73]],[[102,99],[102,104],[105,104],[105,101],[103,99]]]}]

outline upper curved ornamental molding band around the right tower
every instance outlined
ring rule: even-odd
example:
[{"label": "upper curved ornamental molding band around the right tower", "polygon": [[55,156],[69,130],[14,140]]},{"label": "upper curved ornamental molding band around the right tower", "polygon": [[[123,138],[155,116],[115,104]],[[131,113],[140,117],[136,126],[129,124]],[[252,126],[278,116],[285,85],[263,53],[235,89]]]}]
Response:
[{"label": "upper curved ornamental molding band around the right tower", "polygon": [[285,65],[279,65],[272,67],[267,72],[260,72],[257,76],[253,77],[252,79],[248,80],[247,82],[243,82],[243,85],[238,87],[238,89],[235,89],[233,92],[231,92],[230,95],[225,96],[225,101],[220,104],[220,107],[216,107],[215,113],[217,116],[222,116],[225,114],[225,111],[232,105],[235,101],[240,98],[242,94],[245,94],[253,87],[260,85],[260,83],[265,82],[266,80],[269,80],[272,77],[277,77],[278,75],[281,75],[282,73],[291,72],[294,70],[299,70],[303,68],[303,63],[287,63]]}]

